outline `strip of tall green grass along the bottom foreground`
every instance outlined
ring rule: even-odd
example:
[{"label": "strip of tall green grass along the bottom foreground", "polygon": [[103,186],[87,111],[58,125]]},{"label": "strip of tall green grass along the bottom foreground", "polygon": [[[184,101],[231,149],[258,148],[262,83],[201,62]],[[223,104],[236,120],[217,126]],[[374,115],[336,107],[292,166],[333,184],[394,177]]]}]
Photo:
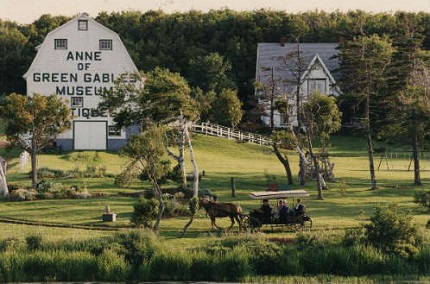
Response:
[{"label": "strip of tall green grass along the bottom foreground", "polygon": [[[31,238],[30,238],[31,239]],[[429,273],[430,246],[412,257],[326,237],[273,242],[261,237],[221,238],[211,247],[167,247],[151,233],[131,231],[97,242],[9,240],[0,246],[1,282],[244,281],[259,277],[397,277]],[[34,245],[37,243],[38,245]],[[321,279],[321,278],[319,278]],[[393,278],[396,279],[396,278]]]}]

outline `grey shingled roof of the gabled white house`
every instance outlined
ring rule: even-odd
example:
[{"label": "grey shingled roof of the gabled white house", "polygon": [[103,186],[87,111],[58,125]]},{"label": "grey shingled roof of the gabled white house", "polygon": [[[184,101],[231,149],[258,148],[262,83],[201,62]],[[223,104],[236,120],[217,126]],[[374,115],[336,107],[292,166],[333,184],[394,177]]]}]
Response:
[{"label": "grey shingled roof of the gabled white house", "polygon": [[[256,81],[266,82],[273,76],[276,81],[294,82],[297,73],[297,50],[300,51],[301,68],[306,69],[314,60],[315,56],[323,61],[325,67],[336,79],[333,73],[339,66],[338,60],[334,58],[338,54],[337,43],[259,43],[257,46]],[[298,49],[299,48],[299,49]],[[289,59],[287,60],[287,58]],[[292,72],[293,70],[293,72]]]}]

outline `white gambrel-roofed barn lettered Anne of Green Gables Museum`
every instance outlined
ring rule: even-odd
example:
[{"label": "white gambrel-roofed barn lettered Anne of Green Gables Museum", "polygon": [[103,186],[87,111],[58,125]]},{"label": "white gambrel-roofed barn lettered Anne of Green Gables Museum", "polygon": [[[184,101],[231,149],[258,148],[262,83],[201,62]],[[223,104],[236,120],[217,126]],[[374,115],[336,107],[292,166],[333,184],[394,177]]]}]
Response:
[{"label": "white gambrel-roofed barn lettered Anne of Green Gables Museum", "polygon": [[48,33],[25,73],[27,95],[56,94],[70,104],[72,127],[57,139],[65,150],[116,150],[129,130],[96,110],[100,94],[137,68],[117,33],[83,13]]}]

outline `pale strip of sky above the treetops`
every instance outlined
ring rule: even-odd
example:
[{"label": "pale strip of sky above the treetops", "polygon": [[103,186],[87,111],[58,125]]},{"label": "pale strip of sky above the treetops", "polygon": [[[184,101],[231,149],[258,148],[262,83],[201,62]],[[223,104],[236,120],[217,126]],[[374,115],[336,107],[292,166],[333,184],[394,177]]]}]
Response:
[{"label": "pale strip of sky above the treetops", "polygon": [[264,8],[289,13],[357,9],[368,12],[430,12],[430,0],[0,0],[0,19],[29,24],[43,14],[76,16],[86,12],[96,17],[102,11],[145,12],[161,9],[173,13],[223,8],[237,11]]}]

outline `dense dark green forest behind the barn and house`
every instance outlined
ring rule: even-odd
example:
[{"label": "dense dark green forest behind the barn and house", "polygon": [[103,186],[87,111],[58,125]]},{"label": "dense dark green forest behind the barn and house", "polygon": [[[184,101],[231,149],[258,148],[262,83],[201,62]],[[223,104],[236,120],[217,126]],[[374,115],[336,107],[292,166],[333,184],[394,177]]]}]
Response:
[{"label": "dense dark green forest behind the barn and house", "polygon": [[[256,47],[259,42],[339,42],[357,34],[395,36],[406,16],[430,47],[430,13],[363,11],[236,12],[212,10],[166,14],[162,11],[100,13],[95,19],[117,32],[140,70],[168,68],[203,92],[235,87],[245,103],[253,94]],[[94,16],[94,15],[93,15]],[[46,34],[70,18],[42,15],[28,25],[0,20],[0,95],[25,93],[22,75]]]}]

